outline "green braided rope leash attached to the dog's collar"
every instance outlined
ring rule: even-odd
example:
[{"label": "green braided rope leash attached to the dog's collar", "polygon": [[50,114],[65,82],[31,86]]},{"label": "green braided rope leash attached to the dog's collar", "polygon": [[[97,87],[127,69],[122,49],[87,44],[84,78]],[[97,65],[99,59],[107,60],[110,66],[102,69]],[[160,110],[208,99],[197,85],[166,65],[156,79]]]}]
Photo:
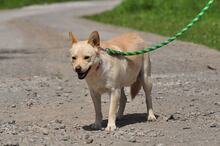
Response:
[{"label": "green braided rope leash attached to the dog's collar", "polygon": [[206,4],[206,6],[201,10],[201,12],[188,24],[186,27],[181,29],[179,32],[177,32],[173,37],[170,37],[166,41],[163,41],[159,44],[154,45],[153,47],[150,48],[144,48],[143,50],[137,50],[134,52],[121,52],[117,50],[113,50],[110,48],[106,48],[106,52],[109,55],[121,55],[121,56],[132,56],[132,55],[139,55],[139,54],[144,54],[147,52],[151,52],[154,50],[157,50],[163,46],[168,45],[172,41],[176,40],[179,36],[183,35],[187,30],[189,30],[196,22],[198,22],[202,16],[205,14],[205,12],[210,8],[210,6],[213,4],[214,0],[209,0],[209,2]]}]

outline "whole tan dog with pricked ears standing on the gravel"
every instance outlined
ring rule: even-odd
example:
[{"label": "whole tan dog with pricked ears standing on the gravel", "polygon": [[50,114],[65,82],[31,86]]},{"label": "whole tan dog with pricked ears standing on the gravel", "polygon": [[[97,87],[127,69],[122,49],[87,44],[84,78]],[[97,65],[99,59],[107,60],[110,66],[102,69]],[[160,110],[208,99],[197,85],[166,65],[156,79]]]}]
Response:
[{"label": "whole tan dog with pricked ears standing on the gravel", "polygon": [[151,63],[149,54],[131,57],[111,56],[102,48],[120,51],[135,51],[145,47],[143,39],[136,33],[127,33],[105,42],[100,42],[99,34],[94,31],[88,40],[77,41],[72,38],[72,65],[79,79],[86,80],[95,106],[95,123],[92,128],[100,129],[102,123],[101,95],[108,93],[111,97],[108,125],[106,130],[116,129],[116,117],[123,116],[127,98],[124,87],[131,87],[132,99],[141,86],[144,89],[147,105],[147,119],[155,121],[151,99]]}]

